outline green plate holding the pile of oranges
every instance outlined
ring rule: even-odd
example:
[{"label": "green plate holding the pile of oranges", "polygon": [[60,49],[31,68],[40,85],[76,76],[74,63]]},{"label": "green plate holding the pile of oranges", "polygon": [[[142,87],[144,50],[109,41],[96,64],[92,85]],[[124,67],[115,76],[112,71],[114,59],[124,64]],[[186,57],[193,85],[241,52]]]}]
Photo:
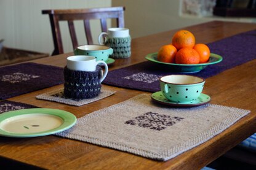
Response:
[{"label": "green plate holding the pile of oranges", "polygon": [[166,66],[169,69],[171,69],[172,71],[184,72],[184,73],[199,72],[211,64],[217,64],[217,63],[220,63],[220,61],[222,61],[222,56],[214,54],[214,53],[210,53],[210,59],[207,63],[201,63],[201,64],[164,63],[164,62],[158,61],[157,57],[158,57],[158,53],[150,53],[150,54],[146,55],[145,58],[146,58],[146,60],[152,61],[153,63],[161,64],[162,66]]}]

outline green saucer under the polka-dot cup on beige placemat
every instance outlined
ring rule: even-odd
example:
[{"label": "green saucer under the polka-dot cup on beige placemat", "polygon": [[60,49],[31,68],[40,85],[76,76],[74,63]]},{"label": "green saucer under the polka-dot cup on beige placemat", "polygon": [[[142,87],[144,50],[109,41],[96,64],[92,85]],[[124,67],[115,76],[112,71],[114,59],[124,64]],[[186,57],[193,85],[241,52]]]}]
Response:
[{"label": "green saucer under the polka-dot cup on beige placemat", "polygon": [[153,101],[159,102],[161,104],[166,104],[166,105],[175,106],[175,107],[194,107],[194,106],[201,106],[203,104],[207,104],[208,102],[210,102],[210,96],[208,96],[204,93],[201,93],[199,98],[194,99],[193,101],[190,101],[190,102],[169,101],[169,99],[166,99],[166,97],[164,97],[164,95],[162,95],[161,91],[153,93],[151,95],[151,99],[153,99]]}]

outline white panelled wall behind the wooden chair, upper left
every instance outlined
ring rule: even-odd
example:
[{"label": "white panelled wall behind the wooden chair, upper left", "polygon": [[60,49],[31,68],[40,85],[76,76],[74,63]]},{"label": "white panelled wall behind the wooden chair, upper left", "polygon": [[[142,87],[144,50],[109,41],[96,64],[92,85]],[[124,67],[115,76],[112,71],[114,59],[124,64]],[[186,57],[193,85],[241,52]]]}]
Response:
[{"label": "white panelled wall behind the wooden chair, upper left", "polygon": [[[43,9],[74,9],[91,7],[110,7],[111,0],[1,0],[0,1],[0,39],[4,46],[52,53],[54,44],[48,15],[42,15]],[[110,24],[111,22],[108,21]],[[84,27],[81,22],[75,25],[79,44],[86,44]],[[91,23],[94,40],[100,34],[100,21]],[[68,26],[60,23],[65,52],[71,52],[72,45]]]}]

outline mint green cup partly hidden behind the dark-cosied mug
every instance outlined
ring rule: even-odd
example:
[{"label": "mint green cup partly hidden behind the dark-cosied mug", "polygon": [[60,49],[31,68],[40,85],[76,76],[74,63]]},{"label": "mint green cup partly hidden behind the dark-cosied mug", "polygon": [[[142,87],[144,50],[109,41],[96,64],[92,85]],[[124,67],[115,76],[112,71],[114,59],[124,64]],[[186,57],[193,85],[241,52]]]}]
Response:
[{"label": "mint green cup partly hidden behind the dark-cosied mug", "polygon": [[106,61],[113,49],[105,45],[81,45],[74,49],[74,55],[94,56],[96,61]]}]

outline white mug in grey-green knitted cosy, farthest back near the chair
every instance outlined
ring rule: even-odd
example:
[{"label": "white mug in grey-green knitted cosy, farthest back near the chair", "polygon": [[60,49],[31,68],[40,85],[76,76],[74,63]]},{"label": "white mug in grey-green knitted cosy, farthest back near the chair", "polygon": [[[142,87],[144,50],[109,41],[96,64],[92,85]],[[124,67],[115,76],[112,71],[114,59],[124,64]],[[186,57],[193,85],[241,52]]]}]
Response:
[{"label": "white mug in grey-green knitted cosy, farthest back near the chair", "polygon": [[[105,35],[104,41],[101,39]],[[129,58],[130,57],[131,37],[127,28],[109,28],[108,33],[101,33],[98,36],[98,43],[113,48],[111,58]]]}]

